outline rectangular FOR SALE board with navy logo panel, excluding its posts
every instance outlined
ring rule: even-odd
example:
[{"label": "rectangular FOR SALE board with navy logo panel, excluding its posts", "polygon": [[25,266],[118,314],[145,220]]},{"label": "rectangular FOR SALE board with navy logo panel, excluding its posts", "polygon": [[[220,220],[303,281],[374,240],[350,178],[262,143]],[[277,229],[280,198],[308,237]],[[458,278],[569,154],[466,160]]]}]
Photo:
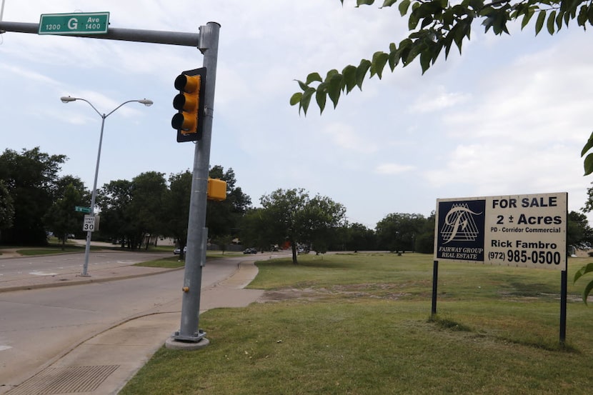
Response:
[{"label": "rectangular FOR SALE board with navy logo panel, excluding its posts", "polygon": [[566,270],[566,192],[437,199],[436,261]]}]

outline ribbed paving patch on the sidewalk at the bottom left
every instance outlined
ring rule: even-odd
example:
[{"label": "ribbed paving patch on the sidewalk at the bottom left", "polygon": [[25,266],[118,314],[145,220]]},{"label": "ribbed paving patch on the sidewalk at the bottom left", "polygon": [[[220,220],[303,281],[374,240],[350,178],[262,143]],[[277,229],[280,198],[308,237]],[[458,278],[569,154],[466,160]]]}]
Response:
[{"label": "ribbed paving patch on the sidewalk at the bottom left", "polygon": [[6,395],[51,395],[92,392],[119,365],[48,368],[31,377]]}]

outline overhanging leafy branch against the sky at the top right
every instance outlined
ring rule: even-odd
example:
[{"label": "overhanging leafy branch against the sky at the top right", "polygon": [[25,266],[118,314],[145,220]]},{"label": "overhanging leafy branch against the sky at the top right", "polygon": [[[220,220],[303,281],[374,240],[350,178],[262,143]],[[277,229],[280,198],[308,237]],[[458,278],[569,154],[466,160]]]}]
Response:
[{"label": "overhanging leafy branch against the sky at the top right", "polygon": [[[344,0],[340,0],[344,4]],[[357,0],[357,6],[374,4],[374,0]],[[409,15],[409,35],[389,44],[389,51],[377,51],[370,59],[362,59],[358,66],[348,65],[338,71],[332,69],[325,78],[314,72],[305,81],[297,81],[302,91],[291,96],[290,104],[298,104],[299,112],[307,114],[309,104],[315,97],[321,112],[327,97],[337,106],[342,93],[349,94],[354,87],[362,90],[362,82],[369,75],[383,76],[385,66],[394,71],[419,58],[424,74],[444,50],[445,59],[455,46],[461,54],[464,40],[469,40],[472,25],[482,22],[484,32],[492,29],[494,34],[509,34],[507,24],[520,21],[521,29],[534,21],[535,34],[545,27],[554,34],[562,26],[576,19],[578,26],[586,28],[593,24],[593,4],[590,0],[462,0],[459,3],[447,0],[384,0],[381,8],[397,5],[401,16]],[[592,159],[593,161],[593,159]]]}]

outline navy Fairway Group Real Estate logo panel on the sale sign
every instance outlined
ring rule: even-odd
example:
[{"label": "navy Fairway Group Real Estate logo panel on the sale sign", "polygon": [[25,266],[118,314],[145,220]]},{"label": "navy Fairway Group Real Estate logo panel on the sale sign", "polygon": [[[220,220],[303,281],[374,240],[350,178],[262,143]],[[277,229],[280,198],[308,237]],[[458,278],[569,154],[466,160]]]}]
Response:
[{"label": "navy Fairway Group Real Estate logo panel on the sale sign", "polygon": [[437,201],[437,259],[484,261],[484,199]]}]

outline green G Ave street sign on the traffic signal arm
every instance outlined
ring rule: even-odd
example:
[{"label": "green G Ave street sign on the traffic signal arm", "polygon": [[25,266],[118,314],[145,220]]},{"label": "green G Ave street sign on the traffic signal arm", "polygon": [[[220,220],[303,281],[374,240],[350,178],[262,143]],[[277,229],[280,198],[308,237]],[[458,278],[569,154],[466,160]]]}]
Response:
[{"label": "green G Ave street sign on the traffic signal arm", "polygon": [[39,34],[106,34],[109,12],[41,14]]}]

